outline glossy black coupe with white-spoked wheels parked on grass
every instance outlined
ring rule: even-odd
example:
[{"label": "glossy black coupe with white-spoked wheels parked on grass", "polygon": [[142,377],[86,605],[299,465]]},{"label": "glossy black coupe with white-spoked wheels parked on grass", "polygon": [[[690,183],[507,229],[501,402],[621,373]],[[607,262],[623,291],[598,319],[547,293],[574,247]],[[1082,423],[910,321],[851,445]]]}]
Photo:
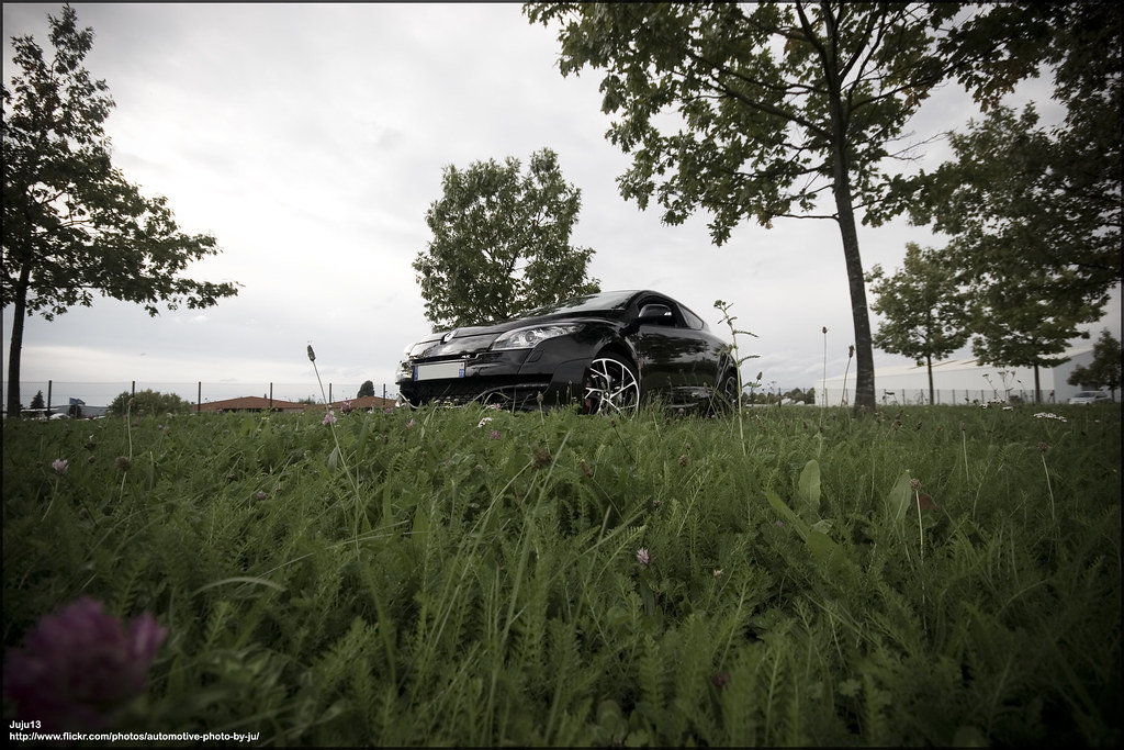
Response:
[{"label": "glossy black coupe with white-spoked wheels parked on grass", "polygon": [[635,413],[736,403],[729,345],[698,315],[654,291],[606,291],[540,307],[525,317],[435,333],[406,352],[398,392],[429,403]]}]

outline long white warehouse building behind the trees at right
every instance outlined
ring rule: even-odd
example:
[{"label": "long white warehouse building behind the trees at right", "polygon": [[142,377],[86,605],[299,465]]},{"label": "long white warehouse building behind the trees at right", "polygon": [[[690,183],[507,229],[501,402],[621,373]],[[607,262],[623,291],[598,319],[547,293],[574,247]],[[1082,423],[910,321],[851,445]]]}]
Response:
[{"label": "long white warehouse building behind the trees at right", "polygon": [[[1043,404],[1064,404],[1081,390],[1066,382],[1073,368],[1093,362],[1093,346],[1067,350],[1069,361],[1054,368],[1039,368],[1039,388]],[[824,406],[854,404],[854,369],[828,378],[816,389],[816,403]],[[845,382],[845,392],[844,392]],[[821,397],[819,390],[823,390]],[[975,359],[944,360],[933,363],[933,396],[936,404],[985,404],[988,401],[1034,403],[1033,368],[999,368],[980,364]],[[874,368],[874,398],[879,404],[928,404],[928,368],[903,364]]]}]

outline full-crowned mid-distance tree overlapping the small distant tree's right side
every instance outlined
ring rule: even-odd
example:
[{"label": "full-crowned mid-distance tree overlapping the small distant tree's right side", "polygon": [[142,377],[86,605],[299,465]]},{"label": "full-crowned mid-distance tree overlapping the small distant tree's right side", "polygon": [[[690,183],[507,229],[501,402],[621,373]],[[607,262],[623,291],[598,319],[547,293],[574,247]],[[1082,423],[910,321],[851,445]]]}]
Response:
[{"label": "full-crowned mid-distance tree overlapping the small distant tree's right side", "polygon": [[1066,361],[1071,340],[1088,337],[1079,326],[1100,318],[1120,250],[1100,242],[1111,218],[1082,214],[1062,184],[1060,152],[1036,123],[1033,107],[1017,116],[996,107],[951,134],[955,159],[925,179],[914,216],[952,235],[942,255],[971,300],[973,353],[1034,368],[1037,401],[1040,368]]}]

